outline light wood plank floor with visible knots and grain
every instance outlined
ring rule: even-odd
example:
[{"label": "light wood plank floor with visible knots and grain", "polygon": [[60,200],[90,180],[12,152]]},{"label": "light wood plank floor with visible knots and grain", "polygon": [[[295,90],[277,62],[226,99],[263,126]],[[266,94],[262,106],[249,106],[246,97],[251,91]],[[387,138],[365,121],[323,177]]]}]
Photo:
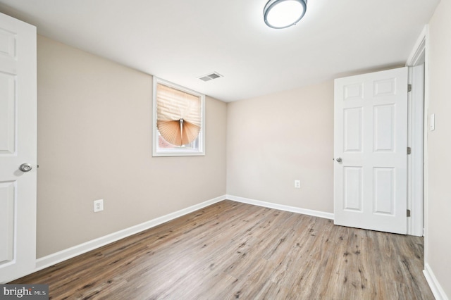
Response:
[{"label": "light wood plank floor with visible knots and grain", "polygon": [[423,239],[221,201],[28,275],[50,299],[433,299]]}]

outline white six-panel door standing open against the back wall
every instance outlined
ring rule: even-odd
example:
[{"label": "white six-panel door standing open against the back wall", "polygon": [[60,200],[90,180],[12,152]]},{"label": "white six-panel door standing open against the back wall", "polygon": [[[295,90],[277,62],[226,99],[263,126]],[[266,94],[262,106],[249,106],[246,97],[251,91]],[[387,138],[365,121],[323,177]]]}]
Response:
[{"label": "white six-panel door standing open against the back wall", "polygon": [[407,233],[407,73],[335,80],[335,225]]}]

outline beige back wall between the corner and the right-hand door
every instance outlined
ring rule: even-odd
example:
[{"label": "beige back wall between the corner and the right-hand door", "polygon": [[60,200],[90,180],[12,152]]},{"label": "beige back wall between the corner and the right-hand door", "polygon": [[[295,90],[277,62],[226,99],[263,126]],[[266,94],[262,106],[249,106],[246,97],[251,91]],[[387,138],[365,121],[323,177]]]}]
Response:
[{"label": "beige back wall between the corner and the right-hand door", "polygon": [[227,194],[333,213],[333,81],[228,104]]}]

